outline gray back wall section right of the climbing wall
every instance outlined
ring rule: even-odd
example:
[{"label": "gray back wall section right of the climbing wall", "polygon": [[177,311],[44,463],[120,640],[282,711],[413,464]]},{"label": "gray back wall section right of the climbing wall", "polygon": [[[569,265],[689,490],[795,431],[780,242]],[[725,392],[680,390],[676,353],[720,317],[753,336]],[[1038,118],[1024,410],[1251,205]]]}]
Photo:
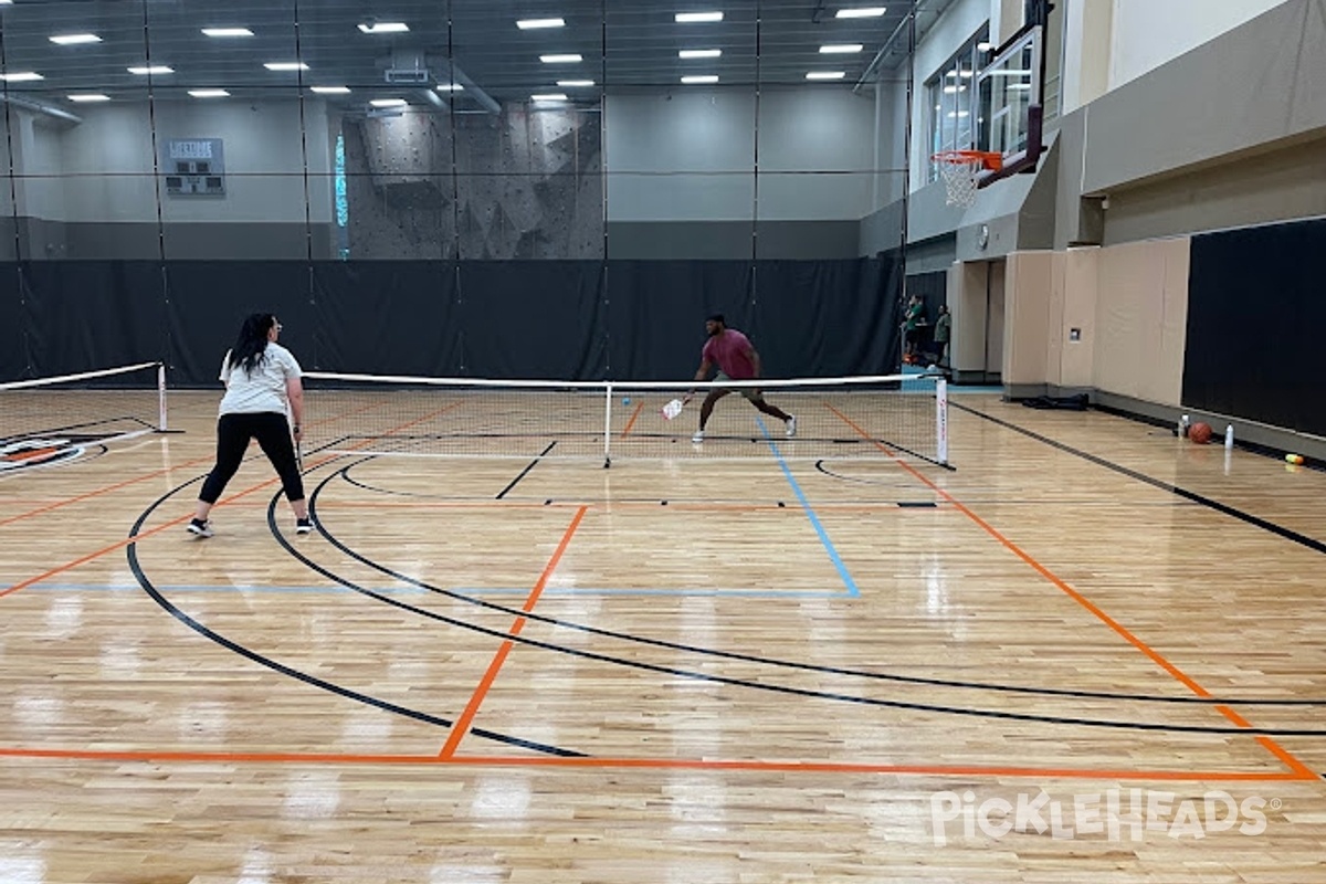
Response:
[{"label": "gray back wall section right of the climbing wall", "polygon": [[610,257],[855,257],[874,98],[842,86],[613,94],[605,156]]}]

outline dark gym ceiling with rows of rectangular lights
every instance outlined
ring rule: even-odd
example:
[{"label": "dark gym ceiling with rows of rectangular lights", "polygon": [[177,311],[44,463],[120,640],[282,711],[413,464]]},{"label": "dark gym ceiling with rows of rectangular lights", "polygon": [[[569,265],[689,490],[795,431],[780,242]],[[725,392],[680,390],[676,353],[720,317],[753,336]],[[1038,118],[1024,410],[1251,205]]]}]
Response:
[{"label": "dark gym ceiling with rows of rectangular lights", "polygon": [[[891,37],[892,61],[906,57],[910,0],[16,0],[0,5],[0,65],[24,97],[68,105],[66,95],[184,97],[220,87],[235,95],[294,94],[302,86],[349,86],[345,102],[418,94],[385,81],[389,68],[423,64],[434,83],[471,82],[499,101],[561,91],[597,101],[617,87],[672,87],[684,74],[716,74],[723,85],[805,83],[809,72],[842,70],[838,87],[867,72]],[[884,5],[871,19],[838,19],[841,7]],[[947,0],[923,3],[918,28],[932,25]],[[676,12],[724,13],[717,24],[678,24]],[[517,19],[562,17],[564,28],[521,30]],[[365,34],[361,23],[403,21],[408,33]],[[245,27],[252,37],[213,38],[204,27]],[[101,42],[56,45],[49,37],[95,33]],[[899,38],[900,37],[900,38]],[[822,54],[825,44],[862,44],[853,54]],[[721,49],[720,58],[682,60],[682,49]],[[899,50],[902,54],[899,54]],[[579,53],[579,64],[550,65],[545,53]],[[280,73],[265,62],[302,61]],[[882,61],[888,61],[882,60]],[[168,65],[171,74],[134,76],[127,68]],[[557,87],[593,80],[593,87]],[[472,99],[472,97],[471,97]]]}]

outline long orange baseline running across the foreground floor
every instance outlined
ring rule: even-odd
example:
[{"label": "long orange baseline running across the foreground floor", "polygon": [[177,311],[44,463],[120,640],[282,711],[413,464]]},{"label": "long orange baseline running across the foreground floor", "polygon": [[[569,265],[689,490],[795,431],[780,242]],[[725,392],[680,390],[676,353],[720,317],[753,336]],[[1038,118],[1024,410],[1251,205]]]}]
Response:
[{"label": "long orange baseline running across the foreground floor", "polygon": [[1166,782],[1309,782],[1305,774],[1260,770],[1134,770],[1082,767],[1014,767],[996,765],[874,765],[831,761],[761,761],[723,758],[578,758],[552,755],[407,755],[300,751],[186,751],[151,749],[30,749],[0,746],[0,758],[69,761],[143,761],[180,763],[308,763],[308,765],[464,765],[492,767],[570,767],[586,770],[732,770],[826,774],[896,774],[918,777],[1008,777],[1053,779],[1120,779]]}]

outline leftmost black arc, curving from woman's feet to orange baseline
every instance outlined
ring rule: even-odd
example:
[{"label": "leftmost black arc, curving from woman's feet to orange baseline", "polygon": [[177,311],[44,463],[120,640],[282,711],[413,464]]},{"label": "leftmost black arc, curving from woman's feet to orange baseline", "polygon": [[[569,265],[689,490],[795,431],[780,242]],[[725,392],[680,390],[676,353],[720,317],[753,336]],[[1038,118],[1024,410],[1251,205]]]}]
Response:
[{"label": "leftmost black arc, curving from woman's feet to orange baseline", "polygon": [[[419,712],[416,709],[410,709],[407,706],[400,706],[400,705],[396,705],[394,702],[387,702],[386,700],[379,700],[378,697],[373,697],[373,696],[369,696],[366,693],[359,693],[357,691],[351,691],[349,688],[343,688],[343,687],[338,685],[338,684],[332,683],[332,681],[325,681],[322,679],[312,676],[312,675],[309,675],[306,672],[300,672],[298,669],[288,667],[284,663],[277,663],[276,660],[272,660],[271,657],[263,656],[261,653],[257,653],[256,651],[252,651],[251,648],[247,648],[247,647],[244,647],[243,644],[240,644],[237,641],[227,639],[224,635],[220,635],[219,632],[215,632],[215,631],[210,630],[208,627],[203,626],[202,623],[199,623],[198,620],[195,620],[194,618],[191,618],[190,615],[184,614],[182,610],[179,610],[178,607],[175,607],[175,604],[170,599],[167,599],[164,595],[160,594],[160,591],[147,578],[146,571],[143,571],[143,567],[142,567],[142,565],[138,561],[138,541],[134,539],[134,538],[137,538],[139,535],[139,533],[142,531],[143,524],[151,517],[152,513],[156,512],[158,508],[160,508],[166,501],[168,501],[170,498],[172,498],[180,490],[188,488],[190,485],[195,485],[195,484],[203,481],[203,478],[206,478],[206,476],[198,476],[195,478],[191,478],[190,481],[184,482],[183,485],[178,485],[176,488],[172,488],[168,492],[166,492],[164,494],[162,494],[160,497],[158,497],[146,510],[143,510],[143,513],[134,522],[133,527],[129,530],[129,537],[130,537],[130,541],[131,541],[126,546],[126,555],[129,557],[129,567],[130,567],[130,570],[134,574],[134,579],[138,580],[138,584],[143,588],[143,591],[158,606],[160,606],[162,610],[164,610],[167,614],[170,614],[171,616],[174,616],[176,620],[179,620],[180,623],[183,623],[186,627],[188,627],[194,632],[196,632],[200,636],[203,636],[204,639],[207,639],[207,640],[210,640],[210,641],[212,641],[212,643],[215,643],[215,644],[225,648],[227,651],[231,651],[232,653],[237,653],[241,657],[245,657],[245,659],[248,659],[248,660],[259,664],[260,667],[265,667],[268,669],[272,669],[273,672],[278,672],[278,673],[281,673],[281,675],[284,675],[286,677],[296,679],[297,681],[302,681],[304,684],[308,684],[310,687],[318,688],[321,691],[326,691],[329,693],[334,693],[334,694],[337,694],[339,697],[345,697],[346,700],[353,700],[355,702],[362,702],[365,705],[374,706],[377,709],[382,709],[383,712],[390,712],[390,713],[394,713],[394,714],[398,714],[398,716],[403,716],[406,718],[412,718],[415,721],[422,721],[422,722],[430,724],[430,725],[438,725],[439,728],[451,728],[453,722],[450,718],[443,718],[440,716],[434,716],[434,714],[430,714],[427,712]],[[281,494],[284,494],[284,492],[278,490],[276,493],[276,496],[273,496],[272,502],[268,505],[268,525],[272,529],[272,531],[274,534],[277,534],[277,537],[280,537],[280,531],[276,529],[276,502],[281,498]],[[215,541],[211,541],[211,542],[215,542]],[[472,729],[471,733],[473,733],[475,736],[485,737],[488,740],[495,740],[495,741],[501,742],[501,744],[507,744],[507,745],[511,745],[511,746],[518,746],[518,747],[524,747],[524,749],[532,749],[534,751],[542,751],[545,754],[566,755],[566,757],[581,757],[582,755],[582,753],[577,753],[577,751],[573,751],[573,750],[569,750],[569,749],[558,749],[556,746],[542,746],[540,744],[534,744],[534,742],[530,742],[528,740],[520,740],[517,737],[508,737],[505,734],[497,734],[497,733],[493,733],[493,732],[487,732],[487,730],[485,732],[480,732],[477,729]]]}]

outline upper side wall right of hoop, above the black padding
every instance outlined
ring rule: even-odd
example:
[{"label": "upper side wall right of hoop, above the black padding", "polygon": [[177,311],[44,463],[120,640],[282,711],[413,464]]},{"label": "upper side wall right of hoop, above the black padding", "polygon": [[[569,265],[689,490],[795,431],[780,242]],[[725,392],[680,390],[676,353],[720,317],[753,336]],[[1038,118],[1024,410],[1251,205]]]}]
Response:
[{"label": "upper side wall right of hoop, above the black padding", "polygon": [[1288,0],[1073,114],[1055,244],[1091,241],[1073,191],[1106,244],[1326,215],[1323,60],[1326,4]]}]

